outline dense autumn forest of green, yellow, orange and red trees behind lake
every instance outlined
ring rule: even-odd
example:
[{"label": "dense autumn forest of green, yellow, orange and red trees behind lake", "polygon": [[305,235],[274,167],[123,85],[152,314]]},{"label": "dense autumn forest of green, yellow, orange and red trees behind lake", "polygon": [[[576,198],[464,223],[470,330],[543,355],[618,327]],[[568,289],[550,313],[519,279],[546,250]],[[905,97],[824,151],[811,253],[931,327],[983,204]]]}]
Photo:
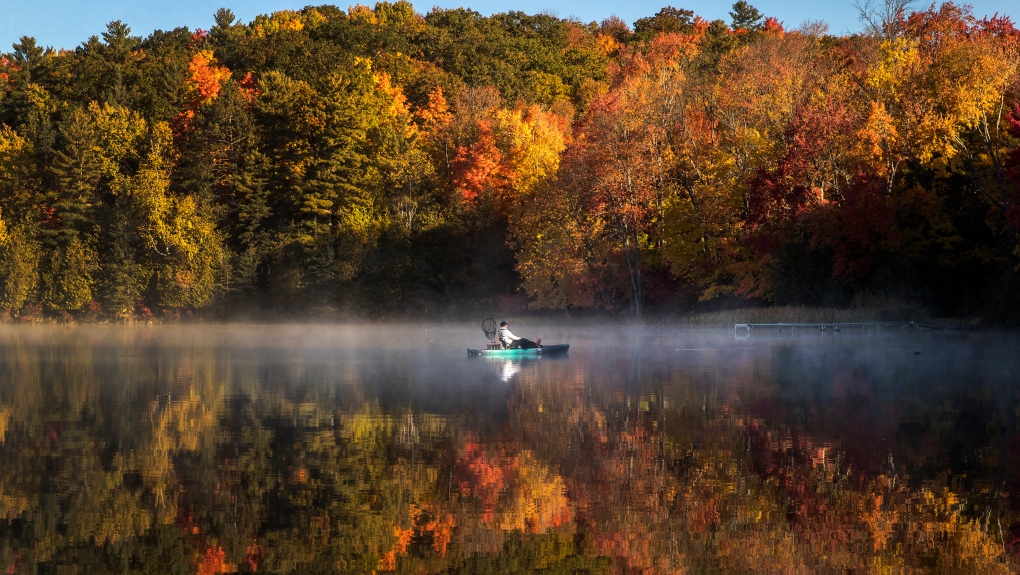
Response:
[{"label": "dense autumn forest of green, yellow, orange and red trees behind lake", "polygon": [[1020,31],[406,2],[0,54],[0,310],[386,317],[862,294],[1020,321]]}]

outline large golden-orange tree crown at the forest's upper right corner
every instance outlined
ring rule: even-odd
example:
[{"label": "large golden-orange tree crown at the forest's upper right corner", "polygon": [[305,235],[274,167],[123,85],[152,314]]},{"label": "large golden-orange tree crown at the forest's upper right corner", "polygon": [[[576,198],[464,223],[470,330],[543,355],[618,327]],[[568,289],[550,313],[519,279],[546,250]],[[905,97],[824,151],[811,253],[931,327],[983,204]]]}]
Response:
[{"label": "large golden-orange tree crown at the forest's upper right corner", "polygon": [[[883,166],[887,190],[909,161],[942,173],[987,166],[998,181],[981,184],[1001,187],[1005,97],[1017,74],[1015,40],[1004,38],[994,21],[979,22],[952,3],[900,17],[900,34],[873,41],[860,82],[869,103],[860,139]],[[1005,211],[1001,191],[982,186],[982,192]]]}]

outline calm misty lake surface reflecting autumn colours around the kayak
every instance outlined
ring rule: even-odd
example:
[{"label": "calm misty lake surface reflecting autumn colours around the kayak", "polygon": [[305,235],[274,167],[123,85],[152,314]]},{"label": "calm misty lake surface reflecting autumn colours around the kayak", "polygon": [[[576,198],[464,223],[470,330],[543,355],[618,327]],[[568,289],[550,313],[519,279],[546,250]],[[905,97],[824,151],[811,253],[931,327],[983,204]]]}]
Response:
[{"label": "calm misty lake surface reflecting autumn colours around the kayak", "polygon": [[1020,339],[0,328],[0,573],[1017,573]]}]

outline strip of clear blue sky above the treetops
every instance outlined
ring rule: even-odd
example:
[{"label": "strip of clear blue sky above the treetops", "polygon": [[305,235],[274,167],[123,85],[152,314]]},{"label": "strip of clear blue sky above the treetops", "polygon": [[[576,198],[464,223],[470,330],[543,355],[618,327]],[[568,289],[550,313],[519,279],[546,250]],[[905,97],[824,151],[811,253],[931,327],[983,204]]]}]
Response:
[{"label": "strip of clear blue sky above the treetops", "polygon": [[[374,0],[363,3],[374,4]],[[12,43],[21,36],[34,36],[39,44],[54,48],[74,48],[90,36],[98,36],[106,30],[106,23],[119,19],[131,27],[136,36],[148,36],[154,30],[172,30],[177,27],[208,29],[212,25],[212,14],[219,7],[227,7],[237,16],[250,21],[257,14],[275,10],[297,9],[305,5],[319,5],[329,2],[308,0],[0,0],[0,53],[10,51]],[[857,11],[853,0],[821,0],[798,2],[794,0],[751,0],[751,3],[765,15],[775,16],[787,28],[796,28],[805,20],[825,20],[833,34],[847,34],[859,30]],[[602,20],[616,14],[629,23],[638,18],[650,16],[662,6],[673,5],[688,8],[708,18],[729,20],[727,12],[731,0],[630,0],[610,2],[609,0],[476,0],[467,7],[482,14],[520,10],[527,13],[550,12],[560,17],[575,17],[581,21]],[[346,3],[337,3],[347,8]],[[414,3],[418,12],[426,12],[432,6],[454,7],[464,5],[463,1],[430,0]],[[918,2],[918,6],[927,6]],[[1017,0],[975,0],[971,2],[977,15],[991,15],[996,12],[1010,15],[1014,21],[1020,17]]]}]

